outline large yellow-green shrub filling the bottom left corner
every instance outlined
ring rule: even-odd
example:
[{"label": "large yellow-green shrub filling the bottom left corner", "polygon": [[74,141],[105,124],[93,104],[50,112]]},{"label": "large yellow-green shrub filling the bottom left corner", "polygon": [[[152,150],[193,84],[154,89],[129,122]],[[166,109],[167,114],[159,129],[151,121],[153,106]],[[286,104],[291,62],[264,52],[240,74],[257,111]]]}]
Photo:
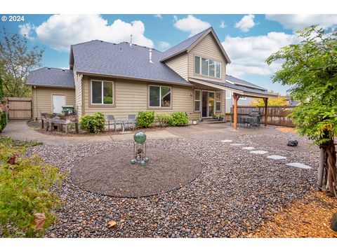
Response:
[{"label": "large yellow-green shrub filling the bottom left corner", "polygon": [[41,237],[56,221],[60,198],[52,190],[63,176],[39,156],[24,153],[25,148],[0,144],[1,237]]}]

